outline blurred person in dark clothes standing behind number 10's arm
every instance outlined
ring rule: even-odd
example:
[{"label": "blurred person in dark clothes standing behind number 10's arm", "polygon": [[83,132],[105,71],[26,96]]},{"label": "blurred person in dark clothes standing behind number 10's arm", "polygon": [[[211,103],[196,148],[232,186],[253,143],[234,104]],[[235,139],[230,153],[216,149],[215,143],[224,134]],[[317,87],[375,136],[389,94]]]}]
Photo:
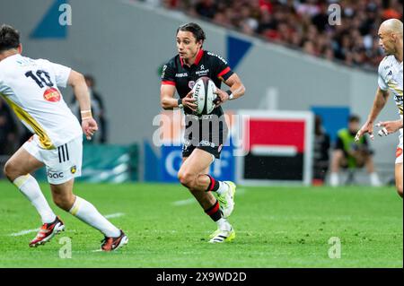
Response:
[{"label": "blurred person in dark clothes standing behind number 10's arm", "polygon": [[[92,117],[94,117],[95,121],[98,123],[98,131],[92,137],[92,143],[107,143],[108,122],[106,120],[105,108],[101,94],[94,91],[95,80],[92,75],[86,74],[84,77],[92,100]],[[73,96],[71,108],[75,116],[81,120],[80,106],[75,99],[75,96]]]}]

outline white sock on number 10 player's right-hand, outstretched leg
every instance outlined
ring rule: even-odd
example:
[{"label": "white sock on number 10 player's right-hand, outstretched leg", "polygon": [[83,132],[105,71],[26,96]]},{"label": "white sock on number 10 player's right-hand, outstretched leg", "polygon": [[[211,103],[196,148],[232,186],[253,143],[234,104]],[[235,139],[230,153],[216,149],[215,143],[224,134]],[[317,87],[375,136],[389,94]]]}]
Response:
[{"label": "white sock on number 10 player's right-hand, outstretched leg", "polygon": [[69,212],[94,229],[100,230],[106,237],[118,238],[120,235],[119,229],[104,218],[91,203],[77,195],[75,196],[75,204]]}]

